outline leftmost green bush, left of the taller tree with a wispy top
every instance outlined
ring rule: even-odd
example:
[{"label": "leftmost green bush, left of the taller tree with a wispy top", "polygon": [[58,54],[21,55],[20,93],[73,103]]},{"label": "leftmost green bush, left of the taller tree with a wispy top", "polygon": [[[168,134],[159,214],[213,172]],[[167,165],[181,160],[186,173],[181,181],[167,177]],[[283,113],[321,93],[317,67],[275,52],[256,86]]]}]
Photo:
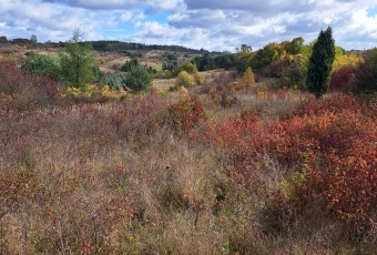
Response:
[{"label": "leftmost green bush, left of the taller tree with a wispy top", "polygon": [[27,58],[22,61],[21,68],[34,74],[45,75],[60,80],[60,65],[54,58],[50,55],[38,54],[33,51],[27,52]]}]

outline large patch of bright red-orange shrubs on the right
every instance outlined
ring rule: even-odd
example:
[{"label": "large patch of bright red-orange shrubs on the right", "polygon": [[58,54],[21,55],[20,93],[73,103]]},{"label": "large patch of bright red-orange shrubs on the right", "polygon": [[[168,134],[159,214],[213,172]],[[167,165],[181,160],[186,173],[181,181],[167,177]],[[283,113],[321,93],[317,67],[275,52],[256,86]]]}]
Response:
[{"label": "large patch of bright red-orange shrubs on the right", "polygon": [[320,204],[348,223],[370,224],[377,222],[377,123],[363,112],[354,98],[339,94],[271,123],[253,116],[212,123],[206,137],[233,162],[230,176],[252,191],[263,185],[267,154],[295,173],[306,171],[287,203],[297,210]]}]

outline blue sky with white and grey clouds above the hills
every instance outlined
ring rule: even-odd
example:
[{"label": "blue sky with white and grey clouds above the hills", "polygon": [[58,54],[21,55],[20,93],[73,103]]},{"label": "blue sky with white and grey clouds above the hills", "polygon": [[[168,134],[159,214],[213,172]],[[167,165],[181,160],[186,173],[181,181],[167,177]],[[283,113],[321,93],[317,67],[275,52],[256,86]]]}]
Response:
[{"label": "blue sky with white and grey clouds above the hills", "polygon": [[376,0],[0,0],[0,35],[9,40],[119,40],[231,51],[269,42],[315,40],[333,28],[346,50],[377,47]]}]

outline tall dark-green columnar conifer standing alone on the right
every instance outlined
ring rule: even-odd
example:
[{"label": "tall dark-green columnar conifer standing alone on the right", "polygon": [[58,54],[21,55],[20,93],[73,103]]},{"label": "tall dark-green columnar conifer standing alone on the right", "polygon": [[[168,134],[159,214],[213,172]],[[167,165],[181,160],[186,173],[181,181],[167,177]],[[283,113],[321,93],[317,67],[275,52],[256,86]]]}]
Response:
[{"label": "tall dark-green columnar conifer standing alone on the right", "polygon": [[313,45],[307,70],[306,88],[317,99],[328,90],[334,59],[335,41],[333,29],[328,27],[325,32],[320,30],[319,37]]}]

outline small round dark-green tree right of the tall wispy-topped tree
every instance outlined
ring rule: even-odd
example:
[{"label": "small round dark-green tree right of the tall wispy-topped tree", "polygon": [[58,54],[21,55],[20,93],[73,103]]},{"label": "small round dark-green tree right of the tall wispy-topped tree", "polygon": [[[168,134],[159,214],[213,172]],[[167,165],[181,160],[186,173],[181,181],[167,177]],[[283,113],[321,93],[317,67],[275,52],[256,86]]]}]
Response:
[{"label": "small round dark-green tree right of the tall wispy-topped tree", "polygon": [[126,86],[134,92],[145,91],[152,84],[153,76],[143,65],[132,67],[125,74]]}]

